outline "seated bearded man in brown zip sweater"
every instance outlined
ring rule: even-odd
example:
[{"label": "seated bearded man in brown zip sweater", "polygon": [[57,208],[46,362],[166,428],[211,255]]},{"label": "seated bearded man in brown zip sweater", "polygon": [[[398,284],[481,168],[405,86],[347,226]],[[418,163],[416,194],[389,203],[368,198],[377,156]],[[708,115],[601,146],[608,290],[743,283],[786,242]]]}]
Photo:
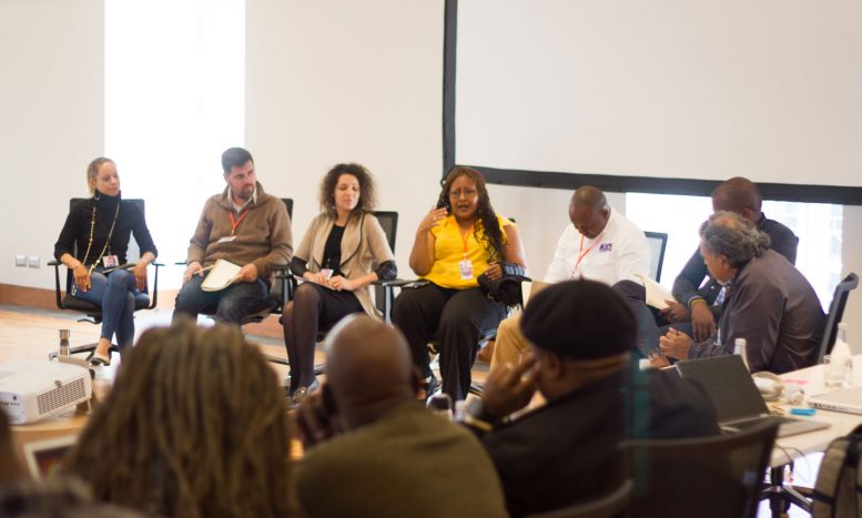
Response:
[{"label": "seated bearded man in brown zip sweater", "polygon": [[[222,154],[222,169],[227,186],[204,204],[189,244],[174,317],[214,312],[217,322],[240,323],[268,296],[273,265],[288,264],[293,257],[287,210],[263,191],[251,153],[229,149]],[[240,272],[226,288],[205,292],[201,284],[220,258],[240,265]]]}]

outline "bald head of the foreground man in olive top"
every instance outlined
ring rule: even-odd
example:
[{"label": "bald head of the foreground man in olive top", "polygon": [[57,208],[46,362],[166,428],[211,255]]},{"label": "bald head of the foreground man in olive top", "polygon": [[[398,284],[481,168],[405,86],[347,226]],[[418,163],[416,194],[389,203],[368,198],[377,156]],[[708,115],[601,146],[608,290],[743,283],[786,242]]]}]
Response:
[{"label": "bald head of the foreground man in olive top", "polygon": [[[326,383],[347,427],[373,420],[414,398],[407,342],[397,329],[367,315],[345,317],[326,338]],[[369,418],[368,413],[374,415]]]}]

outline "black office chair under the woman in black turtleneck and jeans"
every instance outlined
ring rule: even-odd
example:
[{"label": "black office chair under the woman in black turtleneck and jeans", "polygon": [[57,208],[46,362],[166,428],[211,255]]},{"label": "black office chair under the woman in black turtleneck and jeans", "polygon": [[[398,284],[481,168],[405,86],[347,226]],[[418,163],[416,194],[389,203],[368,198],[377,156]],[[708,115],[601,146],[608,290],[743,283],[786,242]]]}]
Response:
[{"label": "black office chair under the woman in black turtleneck and jeans", "polygon": [[[80,203],[87,203],[89,199],[87,197],[73,197],[69,201],[69,209],[70,211]],[[134,203],[139,206],[141,210],[141,214],[144,213],[144,201],[140,199],[134,200],[126,200],[129,202]],[[134,236],[130,240],[130,246],[129,252],[132,253],[136,246],[134,246]],[[73,250],[72,255],[78,255],[78,251]],[[93,303],[82,301],[80,298],[72,296],[72,286],[74,285],[74,275],[72,274],[72,271],[67,268],[65,272],[65,285],[61,286],[60,283],[60,266],[63,265],[63,263],[59,261],[50,261],[48,263],[49,266],[54,267],[54,296],[57,298],[57,307],[63,311],[72,311],[78,312],[81,314],[84,314],[85,316],[82,318],[79,318],[78,322],[89,322],[91,324],[101,324],[102,323],[102,307],[98,306]],[[163,266],[161,263],[151,263],[152,266],[155,267],[155,274],[153,275],[153,288],[152,292],[150,292],[150,287],[146,286],[146,288],[143,291],[144,294],[146,294],[146,297],[135,297],[135,305],[134,311],[138,312],[140,309],[153,309],[155,308],[155,305],[159,302],[159,267]],[[134,267],[134,263],[128,263],[125,267],[131,268]],[[64,287],[64,291],[63,291]],[[152,293],[152,297],[150,297],[150,293]],[[69,354],[79,354],[79,353],[90,353],[95,351],[95,346],[98,344],[85,344],[85,345],[79,345],[74,347],[69,348]],[[120,351],[119,346],[116,344],[111,344],[111,348],[114,351]],[[50,353],[48,355],[49,358],[53,358],[57,356],[57,353]]]}]

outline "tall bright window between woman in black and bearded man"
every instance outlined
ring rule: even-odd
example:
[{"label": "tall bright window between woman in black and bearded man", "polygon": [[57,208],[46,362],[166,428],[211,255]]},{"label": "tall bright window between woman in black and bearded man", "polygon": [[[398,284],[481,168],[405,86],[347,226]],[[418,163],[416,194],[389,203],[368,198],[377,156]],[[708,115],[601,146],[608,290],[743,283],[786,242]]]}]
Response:
[{"label": "tall bright window between woman in black and bearded man", "polygon": [[104,27],[105,155],[160,257],[184,260],[221,153],[245,140],[245,1],[105,0]]}]

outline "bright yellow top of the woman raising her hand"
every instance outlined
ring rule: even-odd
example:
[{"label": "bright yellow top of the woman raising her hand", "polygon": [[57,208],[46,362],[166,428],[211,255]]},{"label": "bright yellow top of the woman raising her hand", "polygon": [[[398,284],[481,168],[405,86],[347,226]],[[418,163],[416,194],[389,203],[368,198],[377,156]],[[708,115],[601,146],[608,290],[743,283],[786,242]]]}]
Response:
[{"label": "bright yellow top of the woman raising her hand", "polygon": [[[497,216],[497,222],[500,228],[509,225],[515,226],[515,223],[501,216]],[[435,237],[434,265],[432,265],[432,271],[428,272],[425,278],[438,286],[456,290],[478,286],[479,283],[476,281],[476,277],[488,270],[488,251],[476,238],[477,234],[484,237],[481,223],[477,221],[474,230],[464,236],[455,216],[449,215],[432,228],[432,234]],[[503,242],[506,243],[505,231],[503,233]],[[473,276],[470,278],[462,278],[460,276],[459,263],[464,261],[465,243],[467,258],[473,265]]]}]

